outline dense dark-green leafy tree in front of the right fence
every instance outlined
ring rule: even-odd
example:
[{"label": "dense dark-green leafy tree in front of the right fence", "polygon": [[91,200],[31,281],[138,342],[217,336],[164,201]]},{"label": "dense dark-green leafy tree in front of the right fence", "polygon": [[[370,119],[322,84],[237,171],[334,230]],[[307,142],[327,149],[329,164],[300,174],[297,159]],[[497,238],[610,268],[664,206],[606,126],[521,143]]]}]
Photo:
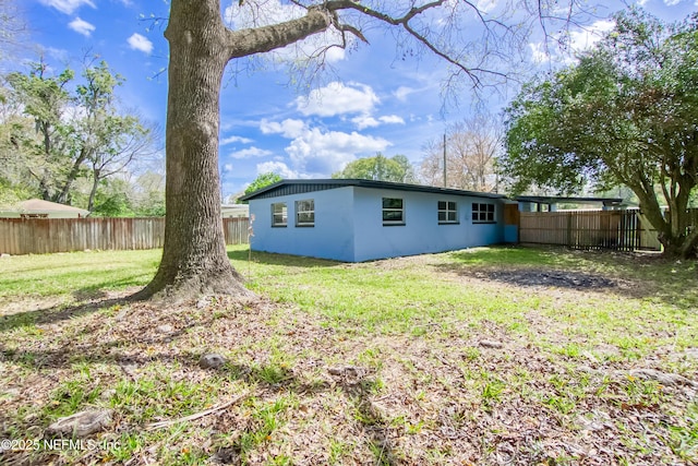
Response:
[{"label": "dense dark-green leafy tree in front of the right fence", "polygon": [[[669,255],[698,243],[688,202],[698,183],[698,15],[664,25],[641,10],[578,64],[527,85],[507,109],[503,170],[574,193],[624,184]],[[669,206],[663,215],[662,204]]]}]

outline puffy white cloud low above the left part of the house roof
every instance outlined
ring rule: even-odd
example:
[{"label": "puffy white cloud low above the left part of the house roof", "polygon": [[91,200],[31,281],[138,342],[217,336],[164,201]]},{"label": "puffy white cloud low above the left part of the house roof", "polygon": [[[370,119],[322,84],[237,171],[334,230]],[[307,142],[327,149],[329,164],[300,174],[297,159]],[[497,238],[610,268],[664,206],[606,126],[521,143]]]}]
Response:
[{"label": "puffy white cloud low above the left part of the house roof", "polygon": [[281,134],[291,140],[286,147],[296,175],[327,177],[361,155],[383,152],[390,143],[382,138],[366,136],[356,131],[322,131],[299,120],[269,122],[263,120],[262,132]]}]

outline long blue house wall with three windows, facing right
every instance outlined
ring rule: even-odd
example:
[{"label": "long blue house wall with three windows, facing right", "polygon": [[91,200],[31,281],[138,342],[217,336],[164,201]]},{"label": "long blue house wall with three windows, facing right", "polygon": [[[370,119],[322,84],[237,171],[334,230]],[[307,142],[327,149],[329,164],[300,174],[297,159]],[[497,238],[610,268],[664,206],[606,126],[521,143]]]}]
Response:
[{"label": "long blue house wall with three windows, facing right", "polygon": [[[356,262],[372,259],[450,251],[504,241],[500,200],[354,188]],[[384,226],[383,198],[400,198],[405,226]],[[458,224],[438,224],[438,201],[456,202]],[[495,224],[473,224],[472,203],[494,203]]]}]

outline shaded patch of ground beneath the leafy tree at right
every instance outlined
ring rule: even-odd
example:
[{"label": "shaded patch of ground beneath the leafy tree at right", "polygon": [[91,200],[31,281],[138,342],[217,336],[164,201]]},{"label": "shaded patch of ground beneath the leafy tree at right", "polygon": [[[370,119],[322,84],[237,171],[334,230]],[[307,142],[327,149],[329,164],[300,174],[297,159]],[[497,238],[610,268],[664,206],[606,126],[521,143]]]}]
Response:
[{"label": "shaded patch of ground beneath the leafy tree at right", "polygon": [[520,287],[554,287],[651,298],[681,308],[698,306],[698,264],[654,253],[565,248],[489,248],[450,253],[440,272]]}]

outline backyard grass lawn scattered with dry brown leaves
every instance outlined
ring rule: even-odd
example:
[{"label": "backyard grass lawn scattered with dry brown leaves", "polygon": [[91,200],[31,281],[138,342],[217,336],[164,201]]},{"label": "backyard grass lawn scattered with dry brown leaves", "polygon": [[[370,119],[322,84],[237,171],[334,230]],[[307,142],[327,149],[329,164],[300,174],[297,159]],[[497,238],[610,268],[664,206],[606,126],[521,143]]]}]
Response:
[{"label": "backyard grass lawn scattered with dry brown leaves", "polygon": [[[260,299],[125,301],[159,254],[0,259],[0,464],[698,463],[694,261],[231,247]],[[20,449],[91,408],[91,443]]]}]

